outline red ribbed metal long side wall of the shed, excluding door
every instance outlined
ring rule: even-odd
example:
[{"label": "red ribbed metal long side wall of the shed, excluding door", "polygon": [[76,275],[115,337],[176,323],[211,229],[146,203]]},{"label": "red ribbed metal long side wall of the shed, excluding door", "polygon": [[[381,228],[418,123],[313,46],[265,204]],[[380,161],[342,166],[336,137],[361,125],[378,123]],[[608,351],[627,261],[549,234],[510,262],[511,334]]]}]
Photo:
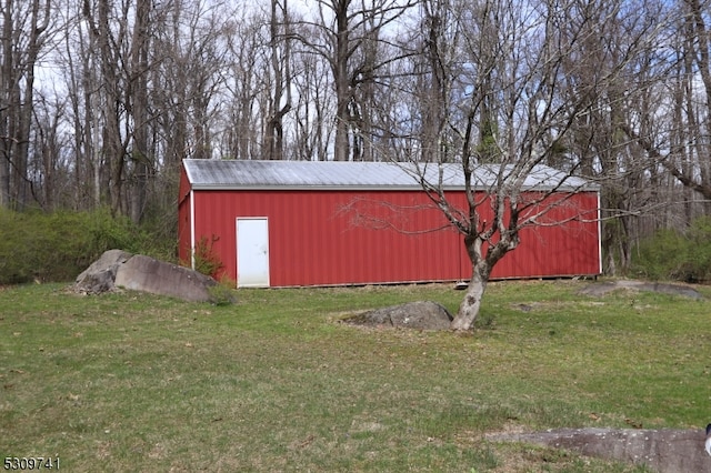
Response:
[{"label": "red ribbed metal long side wall of the shed, excluding door", "polygon": [[[196,239],[213,241],[226,275],[234,280],[238,217],[269,219],[273,286],[452,281],[471,275],[461,236],[422,192],[194,191],[193,198]],[[463,194],[449,198],[464,208]],[[597,204],[595,193],[581,193],[557,207],[550,218],[567,220],[582,208],[594,212],[592,219]],[[594,222],[527,229],[521,240],[492,278],[599,273]]]}]

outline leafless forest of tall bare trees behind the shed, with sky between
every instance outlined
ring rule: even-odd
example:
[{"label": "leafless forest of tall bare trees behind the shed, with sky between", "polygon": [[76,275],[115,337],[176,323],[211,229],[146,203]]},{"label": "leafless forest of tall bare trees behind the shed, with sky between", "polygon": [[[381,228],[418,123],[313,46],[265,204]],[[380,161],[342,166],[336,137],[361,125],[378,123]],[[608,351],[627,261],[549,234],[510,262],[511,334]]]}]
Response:
[{"label": "leafless forest of tall bare trees behind the shed, with sky between", "polygon": [[187,158],[535,157],[602,185],[611,273],[711,213],[709,0],[1,3],[1,208],[173,215]]}]

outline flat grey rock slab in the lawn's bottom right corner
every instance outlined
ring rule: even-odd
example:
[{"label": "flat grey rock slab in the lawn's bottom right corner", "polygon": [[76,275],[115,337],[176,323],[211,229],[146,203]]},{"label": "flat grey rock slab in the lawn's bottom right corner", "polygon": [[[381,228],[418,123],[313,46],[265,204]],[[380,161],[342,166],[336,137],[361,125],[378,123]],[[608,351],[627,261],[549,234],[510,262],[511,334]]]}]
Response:
[{"label": "flat grey rock slab in the lawn's bottom right corner", "polygon": [[559,429],[533,433],[493,433],[493,442],[523,442],[585,456],[643,464],[660,473],[711,472],[701,430]]}]

